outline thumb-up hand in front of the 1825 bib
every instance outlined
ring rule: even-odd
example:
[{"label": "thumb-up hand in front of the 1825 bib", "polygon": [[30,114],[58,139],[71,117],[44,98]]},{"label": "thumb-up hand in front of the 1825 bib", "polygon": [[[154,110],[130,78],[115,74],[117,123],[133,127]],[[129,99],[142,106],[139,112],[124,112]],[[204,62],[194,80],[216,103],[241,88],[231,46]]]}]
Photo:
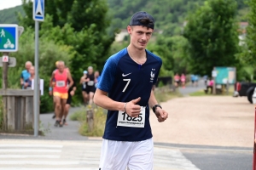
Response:
[{"label": "thumb-up hand in front of the 1825 bib", "polygon": [[141,112],[141,106],[140,105],[136,105],[137,102],[139,102],[141,100],[141,98],[137,98],[137,99],[132,99],[131,101],[129,101],[126,106],[125,106],[125,111],[126,113],[131,116],[131,117],[137,117],[139,116],[140,112]]}]

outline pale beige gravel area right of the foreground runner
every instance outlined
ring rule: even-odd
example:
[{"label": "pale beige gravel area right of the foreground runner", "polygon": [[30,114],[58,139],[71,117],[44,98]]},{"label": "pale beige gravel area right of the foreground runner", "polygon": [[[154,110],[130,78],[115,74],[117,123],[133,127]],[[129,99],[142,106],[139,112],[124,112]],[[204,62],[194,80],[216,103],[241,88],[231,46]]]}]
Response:
[{"label": "pale beige gravel area right of the foreground runner", "polygon": [[252,147],[254,107],[245,98],[184,97],[161,104],[166,122],[150,116],[154,142]]}]

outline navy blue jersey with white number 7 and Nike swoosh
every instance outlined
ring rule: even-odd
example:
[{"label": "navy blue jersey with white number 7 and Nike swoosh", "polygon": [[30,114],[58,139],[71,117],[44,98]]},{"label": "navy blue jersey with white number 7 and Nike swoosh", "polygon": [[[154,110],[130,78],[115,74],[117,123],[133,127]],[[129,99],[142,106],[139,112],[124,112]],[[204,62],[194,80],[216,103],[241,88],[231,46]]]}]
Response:
[{"label": "navy blue jersey with white number 7 and Nike swoosh", "polygon": [[[142,141],[152,138],[149,124],[148,99],[151,89],[157,81],[162,60],[160,57],[146,50],[147,61],[138,65],[131,59],[127,48],[108,58],[104,65],[101,81],[98,88],[108,92],[108,97],[119,102],[129,102],[141,97],[137,105],[145,106],[145,120],[143,127],[118,126],[119,111],[108,111],[107,121],[103,139],[118,141]],[[129,123],[141,123],[140,118],[131,118],[122,113],[124,121]]]}]

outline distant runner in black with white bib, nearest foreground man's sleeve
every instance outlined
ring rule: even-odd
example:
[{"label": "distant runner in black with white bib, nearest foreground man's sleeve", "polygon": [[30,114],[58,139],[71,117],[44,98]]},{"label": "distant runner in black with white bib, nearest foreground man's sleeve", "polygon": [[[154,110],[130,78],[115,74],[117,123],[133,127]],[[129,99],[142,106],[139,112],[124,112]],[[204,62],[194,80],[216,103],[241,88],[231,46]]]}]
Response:
[{"label": "distant runner in black with white bib, nearest foreground man's sleeve", "polygon": [[94,76],[93,68],[92,66],[88,67],[88,73],[87,73],[87,78],[85,80],[86,82],[86,94],[89,96],[89,105],[93,103],[93,96],[95,93],[95,81],[96,78]]}]

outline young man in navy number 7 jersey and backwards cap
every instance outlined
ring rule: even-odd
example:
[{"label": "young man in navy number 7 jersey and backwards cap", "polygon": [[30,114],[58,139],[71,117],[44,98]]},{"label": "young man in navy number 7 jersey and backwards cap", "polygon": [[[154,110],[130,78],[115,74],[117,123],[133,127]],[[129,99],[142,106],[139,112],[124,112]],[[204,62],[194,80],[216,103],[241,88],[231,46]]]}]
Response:
[{"label": "young man in navy number 7 jersey and backwards cap", "polygon": [[154,18],[146,12],[131,17],[127,26],[131,42],[104,65],[94,102],[108,110],[102,141],[100,169],[153,169],[153,139],[149,110],[159,122],[168,113],[152,90],[162,60],[146,50],[154,31]]}]

